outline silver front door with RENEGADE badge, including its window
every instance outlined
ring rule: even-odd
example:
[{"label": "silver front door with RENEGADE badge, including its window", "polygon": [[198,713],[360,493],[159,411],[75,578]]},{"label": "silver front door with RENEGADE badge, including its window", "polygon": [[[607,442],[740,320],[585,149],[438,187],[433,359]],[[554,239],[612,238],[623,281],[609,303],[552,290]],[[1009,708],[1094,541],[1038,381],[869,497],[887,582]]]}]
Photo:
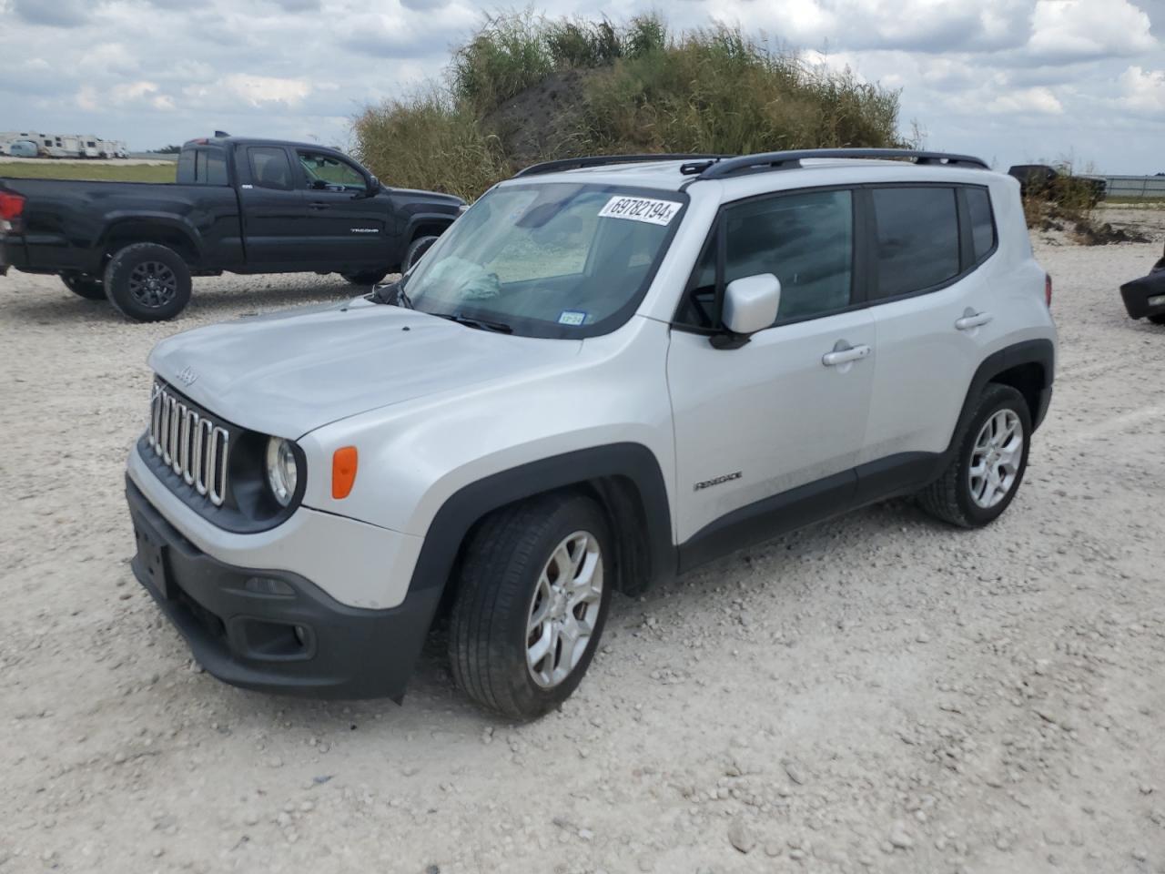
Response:
[{"label": "silver front door with RENEGADE badge, including its window", "polygon": [[[848,508],[874,380],[874,319],[855,302],[850,191],[729,204],[697,265],[668,352],[682,563]],[[771,327],[709,332],[728,282],[771,273]],[[829,353],[853,350],[853,360]]]}]

